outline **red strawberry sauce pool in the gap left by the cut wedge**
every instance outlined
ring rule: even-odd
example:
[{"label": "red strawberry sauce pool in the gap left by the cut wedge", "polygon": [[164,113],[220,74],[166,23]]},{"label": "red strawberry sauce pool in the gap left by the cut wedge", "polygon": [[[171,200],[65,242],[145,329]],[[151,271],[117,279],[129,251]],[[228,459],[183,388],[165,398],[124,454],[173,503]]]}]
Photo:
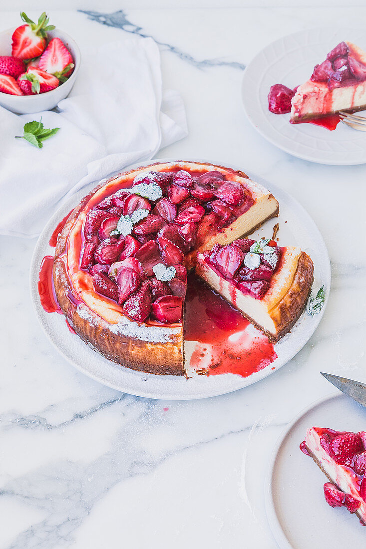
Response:
[{"label": "red strawberry sauce pool in the gap left by the cut wedge", "polygon": [[195,275],[188,277],[184,337],[198,341],[190,366],[208,376],[248,377],[277,358],[268,338]]}]

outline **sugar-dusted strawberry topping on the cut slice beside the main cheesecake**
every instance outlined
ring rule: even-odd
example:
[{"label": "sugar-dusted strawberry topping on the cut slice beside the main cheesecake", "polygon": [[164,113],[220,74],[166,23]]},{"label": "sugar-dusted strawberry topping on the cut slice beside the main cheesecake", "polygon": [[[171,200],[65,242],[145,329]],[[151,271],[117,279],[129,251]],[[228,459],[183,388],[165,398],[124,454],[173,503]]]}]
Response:
[{"label": "sugar-dusted strawberry topping on the cut slice beside the main cheesecake", "polygon": [[273,240],[239,238],[231,244],[215,244],[204,252],[207,263],[243,294],[262,299],[282,254]]}]

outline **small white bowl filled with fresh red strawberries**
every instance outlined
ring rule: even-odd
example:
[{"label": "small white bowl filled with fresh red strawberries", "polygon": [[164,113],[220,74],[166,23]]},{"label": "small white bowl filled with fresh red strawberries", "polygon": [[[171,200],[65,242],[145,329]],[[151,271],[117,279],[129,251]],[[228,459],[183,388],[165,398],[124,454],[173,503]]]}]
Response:
[{"label": "small white bowl filled with fresh red strawberries", "polygon": [[24,24],[0,32],[0,105],[13,113],[38,113],[56,107],[74,86],[80,66],[76,42],[22,12]]}]

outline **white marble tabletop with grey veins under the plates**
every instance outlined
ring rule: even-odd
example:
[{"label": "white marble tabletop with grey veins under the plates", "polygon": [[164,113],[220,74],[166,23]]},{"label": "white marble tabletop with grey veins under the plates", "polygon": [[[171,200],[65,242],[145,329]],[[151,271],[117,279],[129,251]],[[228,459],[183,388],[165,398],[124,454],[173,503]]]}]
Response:
[{"label": "white marble tabletop with grey veins under the plates", "polygon": [[[263,491],[276,438],[332,392],[320,370],[366,381],[366,167],[315,165],[268,144],[243,114],[240,82],[264,44],[314,16],[337,25],[354,10],[141,9],[99,22],[50,15],[81,48],[131,31],[164,44],[164,84],[181,91],[190,135],[161,155],[240,165],[286,189],[318,223],[333,279],[317,332],[279,372],[214,399],[152,401],[99,385],[57,354],[30,302],[35,240],[2,238],[0,548],[275,548]],[[17,16],[3,12],[2,27]]]}]

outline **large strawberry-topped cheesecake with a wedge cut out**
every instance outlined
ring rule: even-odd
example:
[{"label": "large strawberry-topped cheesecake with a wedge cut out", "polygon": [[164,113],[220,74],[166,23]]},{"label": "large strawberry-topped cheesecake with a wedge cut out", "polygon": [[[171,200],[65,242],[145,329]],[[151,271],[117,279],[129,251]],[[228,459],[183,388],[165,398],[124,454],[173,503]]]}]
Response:
[{"label": "large strawberry-topped cheesecake with a wedge cut out", "polygon": [[60,309],[109,360],[184,376],[183,306],[197,254],[252,233],[278,212],[268,189],[224,166],[174,161],[104,180],[58,236]]}]

